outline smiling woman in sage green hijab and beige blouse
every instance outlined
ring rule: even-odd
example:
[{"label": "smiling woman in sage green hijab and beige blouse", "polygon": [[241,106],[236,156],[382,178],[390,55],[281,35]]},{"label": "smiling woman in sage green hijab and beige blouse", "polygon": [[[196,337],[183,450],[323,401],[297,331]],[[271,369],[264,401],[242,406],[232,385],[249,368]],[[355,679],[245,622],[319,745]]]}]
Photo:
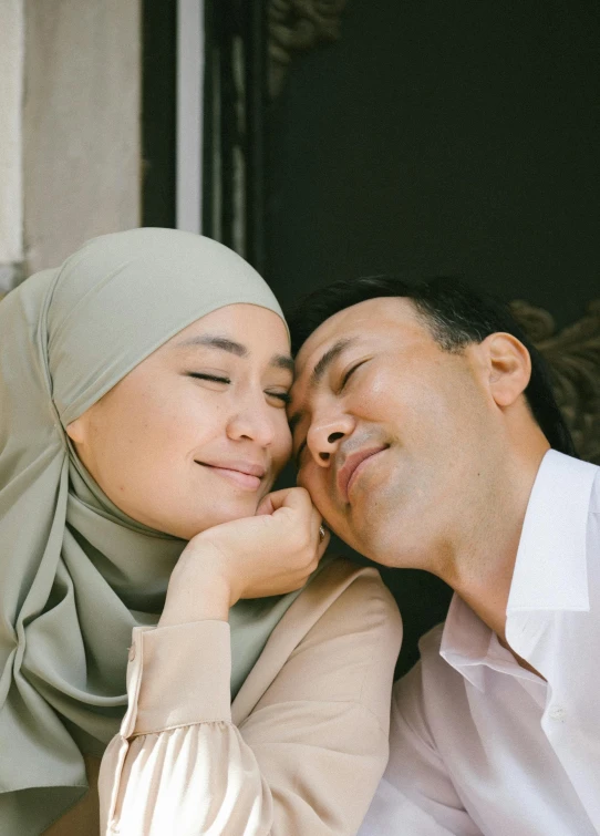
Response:
[{"label": "smiling woman in sage green hijab and beige blouse", "polygon": [[358,828],[400,625],[268,493],[290,384],[270,290],[199,236],[94,239],[1,302],[3,836],[97,833],[112,737],[103,833]]}]

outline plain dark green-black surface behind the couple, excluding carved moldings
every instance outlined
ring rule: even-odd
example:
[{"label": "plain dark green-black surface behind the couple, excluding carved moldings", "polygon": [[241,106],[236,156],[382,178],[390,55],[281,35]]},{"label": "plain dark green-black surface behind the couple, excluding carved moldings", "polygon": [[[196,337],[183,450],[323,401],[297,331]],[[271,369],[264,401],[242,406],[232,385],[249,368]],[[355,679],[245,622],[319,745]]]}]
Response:
[{"label": "plain dark green-black surface behind the couple, excluding carved moldings", "polygon": [[[560,326],[600,297],[597,0],[349,0],[268,114],[268,278],[462,273]],[[448,591],[384,572],[406,641]]]}]

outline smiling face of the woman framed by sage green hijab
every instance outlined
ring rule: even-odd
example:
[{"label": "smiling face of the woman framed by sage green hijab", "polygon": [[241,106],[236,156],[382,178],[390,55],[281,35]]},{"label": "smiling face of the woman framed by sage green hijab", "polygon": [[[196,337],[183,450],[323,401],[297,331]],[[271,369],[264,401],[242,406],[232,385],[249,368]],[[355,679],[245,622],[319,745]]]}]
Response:
[{"label": "smiling face of the woman framed by sage green hijab", "polygon": [[190,539],[255,514],[289,457],[281,319],[229,305],[180,331],[66,429],[106,496]]}]

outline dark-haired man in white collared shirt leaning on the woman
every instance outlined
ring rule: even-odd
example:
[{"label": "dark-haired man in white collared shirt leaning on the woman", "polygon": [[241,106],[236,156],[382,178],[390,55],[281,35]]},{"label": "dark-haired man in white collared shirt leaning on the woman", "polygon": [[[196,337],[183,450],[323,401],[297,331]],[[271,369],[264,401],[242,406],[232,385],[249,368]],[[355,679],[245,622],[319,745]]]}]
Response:
[{"label": "dark-haired man in white collared shirt leaning on the woman", "polygon": [[455,590],[395,685],[362,836],[600,833],[600,468],[539,355],[451,279],[339,282],[300,311],[299,484],[353,548]]}]

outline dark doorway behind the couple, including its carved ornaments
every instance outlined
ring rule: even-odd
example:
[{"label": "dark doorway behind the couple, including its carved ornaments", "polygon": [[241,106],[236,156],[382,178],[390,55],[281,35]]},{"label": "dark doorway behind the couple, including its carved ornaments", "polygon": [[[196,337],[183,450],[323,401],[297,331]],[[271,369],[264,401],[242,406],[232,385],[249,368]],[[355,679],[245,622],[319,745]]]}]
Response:
[{"label": "dark doorway behind the couple, including its carved ornaments", "polygon": [[[221,239],[242,225],[237,248],[285,307],[399,271],[526,300],[580,450],[600,457],[597,3],[210,0],[207,14],[205,200],[218,190]],[[404,616],[400,672],[449,590],[383,575]]]}]

